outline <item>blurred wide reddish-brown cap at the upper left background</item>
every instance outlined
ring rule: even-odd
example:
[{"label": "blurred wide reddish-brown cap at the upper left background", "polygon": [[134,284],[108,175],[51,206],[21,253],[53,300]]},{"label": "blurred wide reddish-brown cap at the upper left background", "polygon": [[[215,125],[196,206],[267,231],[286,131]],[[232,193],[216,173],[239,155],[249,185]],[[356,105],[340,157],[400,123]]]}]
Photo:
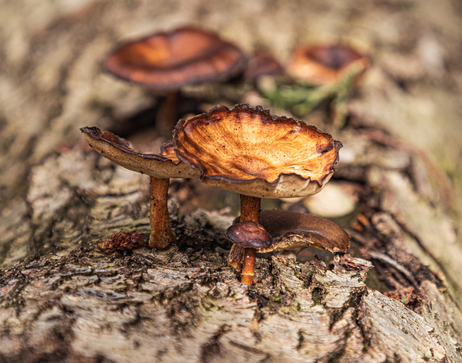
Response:
[{"label": "blurred wide reddish-brown cap at the upper left background", "polygon": [[237,46],[190,27],[124,44],[104,61],[114,75],[158,90],[225,79],[246,64]]}]

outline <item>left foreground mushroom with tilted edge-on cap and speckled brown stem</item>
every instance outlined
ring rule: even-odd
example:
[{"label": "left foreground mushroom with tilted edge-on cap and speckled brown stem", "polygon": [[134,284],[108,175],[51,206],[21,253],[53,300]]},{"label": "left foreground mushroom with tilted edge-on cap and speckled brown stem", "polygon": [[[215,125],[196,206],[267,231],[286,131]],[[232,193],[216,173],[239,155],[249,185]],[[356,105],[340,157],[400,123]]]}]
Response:
[{"label": "left foreground mushroom with tilted edge-on cap and speckled brown stem", "polygon": [[90,146],[102,156],[126,169],[151,177],[149,247],[168,247],[176,240],[175,232],[170,228],[167,209],[170,178],[197,178],[199,171],[180,163],[173,152],[171,142],[164,144],[160,155],[141,154],[132,150],[125,139],[108,131],[101,132],[97,127],[83,127],[80,130]]}]

